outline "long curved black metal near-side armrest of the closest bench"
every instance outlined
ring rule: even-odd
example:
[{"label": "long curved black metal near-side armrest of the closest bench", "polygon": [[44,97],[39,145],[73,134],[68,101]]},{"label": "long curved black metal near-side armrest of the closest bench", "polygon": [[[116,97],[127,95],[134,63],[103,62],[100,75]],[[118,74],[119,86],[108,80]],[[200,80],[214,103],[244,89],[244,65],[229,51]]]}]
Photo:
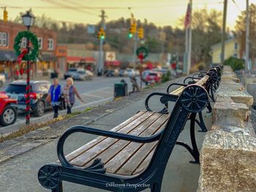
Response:
[{"label": "long curved black metal near-side armrest of the closest bench", "polygon": [[57,155],[59,157],[59,161],[61,162],[62,166],[67,166],[67,167],[72,166],[71,164],[69,164],[69,162],[67,161],[64,155],[64,142],[66,141],[67,137],[69,137],[69,135],[78,133],[78,132],[86,133],[86,134],[95,134],[99,136],[111,137],[115,139],[127,140],[129,142],[140,142],[140,143],[157,141],[162,135],[162,131],[160,131],[159,133],[149,137],[138,137],[131,134],[122,134],[114,131],[105,131],[102,129],[90,128],[86,126],[73,126],[67,129],[67,131],[65,131],[64,134],[62,134],[62,136],[59,138],[59,142],[57,145]]}]

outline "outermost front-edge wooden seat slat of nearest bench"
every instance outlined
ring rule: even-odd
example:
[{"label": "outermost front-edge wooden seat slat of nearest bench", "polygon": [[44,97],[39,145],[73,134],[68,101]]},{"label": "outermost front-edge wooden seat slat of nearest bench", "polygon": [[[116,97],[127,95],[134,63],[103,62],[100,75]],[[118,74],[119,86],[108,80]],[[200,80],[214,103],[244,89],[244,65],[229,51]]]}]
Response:
[{"label": "outermost front-edge wooden seat slat of nearest bench", "polygon": [[[140,118],[141,115],[145,114],[146,111],[140,111],[137,114],[133,115],[131,118],[125,120],[120,125],[116,126],[115,128],[112,128],[110,131],[120,131],[121,128],[124,128],[132,121],[136,120],[137,118]],[[83,145],[82,147],[79,147],[77,150],[73,151],[72,153],[69,153],[69,155],[66,156],[67,161],[72,161],[74,158],[76,158],[78,155],[84,153],[86,150],[89,150],[91,147],[94,147],[99,142],[102,142],[102,140],[106,139],[107,137],[97,137],[96,139],[92,140],[91,142],[87,143],[86,145]]]}]

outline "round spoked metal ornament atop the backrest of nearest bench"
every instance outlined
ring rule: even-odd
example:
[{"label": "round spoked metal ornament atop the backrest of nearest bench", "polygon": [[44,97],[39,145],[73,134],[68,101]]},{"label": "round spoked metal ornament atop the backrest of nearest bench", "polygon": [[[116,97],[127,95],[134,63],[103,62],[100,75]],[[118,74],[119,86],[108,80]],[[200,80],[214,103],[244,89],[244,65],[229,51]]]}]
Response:
[{"label": "round spoked metal ornament atop the backrest of nearest bench", "polygon": [[181,105],[189,112],[200,112],[208,104],[208,93],[200,85],[188,85],[181,94]]}]

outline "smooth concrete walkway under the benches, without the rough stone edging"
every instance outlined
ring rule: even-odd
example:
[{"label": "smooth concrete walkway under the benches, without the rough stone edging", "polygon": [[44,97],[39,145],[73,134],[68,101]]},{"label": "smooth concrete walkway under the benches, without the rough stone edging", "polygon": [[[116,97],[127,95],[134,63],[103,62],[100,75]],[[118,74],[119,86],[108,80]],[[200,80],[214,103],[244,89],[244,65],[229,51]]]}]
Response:
[{"label": "smooth concrete walkway under the benches, without the rough stone edging", "polygon": [[[162,90],[165,92],[165,90]],[[135,115],[139,110],[145,110],[145,97],[138,101],[134,101],[126,107],[111,112],[103,118],[99,118],[89,126],[94,128],[102,128],[110,130],[119,123],[127,120],[127,118]],[[159,109],[159,101],[152,101],[154,109]],[[171,108],[171,107],[170,107]],[[86,113],[85,113],[86,115]],[[206,113],[204,113],[206,115]],[[211,116],[205,119],[206,126],[211,126]],[[79,122],[77,122],[79,124]],[[196,127],[196,130],[199,128]],[[199,148],[203,142],[204,133],[196,131],[197,144]],[[95,137],[86,134],[74,134],[67,139],[65,144],[65,153],[69,153]],[[189,122],[181,132],[179,140],[190,143],[189,138]],[[43,192],[48,191],[42,188],[37,181],[37,172],[39,168],[45,164],[53,163],[58,160],[56,155],[57,139],[48,142],[46,145],[23,153],[9,161],[0,164],[0,191],[3,192]],[[170,156],[165,175],[163,178],[162,192],[193,192],[197,190],[197,181],[200,175],[200,165],[189,164],[192,156],[184,147],[176,146]],[[64,191],[72,192],[94,192],[102,191],[95,188],[89,188],[83,185],[64,182]]]}]

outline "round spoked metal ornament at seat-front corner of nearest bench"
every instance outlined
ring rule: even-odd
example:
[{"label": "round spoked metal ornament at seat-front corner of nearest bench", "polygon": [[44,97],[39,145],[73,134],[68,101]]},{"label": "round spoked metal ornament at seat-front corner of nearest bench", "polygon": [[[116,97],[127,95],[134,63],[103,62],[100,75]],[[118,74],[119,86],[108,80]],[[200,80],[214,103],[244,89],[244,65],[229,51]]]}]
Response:
[{"label": "round spoked metal ornament at seat-front corner of nearest bench", "polygon": [[59,185],[61,174],[59,169],[54,166],[42,166],[38,172],[38,181],[48,189],[56,188]]}]

